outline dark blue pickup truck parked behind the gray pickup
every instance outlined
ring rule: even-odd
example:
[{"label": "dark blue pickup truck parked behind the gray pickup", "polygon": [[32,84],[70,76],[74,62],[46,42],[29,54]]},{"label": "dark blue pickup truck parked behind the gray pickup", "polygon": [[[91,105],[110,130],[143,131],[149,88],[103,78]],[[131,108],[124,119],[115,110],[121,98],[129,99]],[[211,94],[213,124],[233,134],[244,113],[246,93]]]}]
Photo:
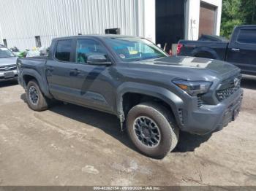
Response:
[{"label": "dark blue pickup truck parked behind the gray pickup", "polygon": [[256,75],[256,26],[238,26],[230,42],[178,42],[178,55],[218,59],[233,63],[243,74]]}]

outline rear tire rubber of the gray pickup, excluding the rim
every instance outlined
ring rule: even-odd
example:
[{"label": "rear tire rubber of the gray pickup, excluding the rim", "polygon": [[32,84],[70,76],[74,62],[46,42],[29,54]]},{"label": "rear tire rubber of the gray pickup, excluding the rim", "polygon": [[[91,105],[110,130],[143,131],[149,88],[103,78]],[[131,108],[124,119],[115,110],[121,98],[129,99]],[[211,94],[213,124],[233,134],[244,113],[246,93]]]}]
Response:
[{"label": "rear tire rubber of the gray pickup, excluding the rim", "polygon": [[[31,87],[35,88],[35,90],[37,91],[37,94],[38,94],[37,104],[33,104],[31,101],[31,98],[29,98],[29,90]],[[45,95],[42,94],[42,91],[40,90],[39,85],[37,84],[37,81],[34,79],[29,81],[26,87],[26,102],[29,108],[37,112],[42,112],[48,109],[50,100],[48,100],[48,98],[46,98]]]}]

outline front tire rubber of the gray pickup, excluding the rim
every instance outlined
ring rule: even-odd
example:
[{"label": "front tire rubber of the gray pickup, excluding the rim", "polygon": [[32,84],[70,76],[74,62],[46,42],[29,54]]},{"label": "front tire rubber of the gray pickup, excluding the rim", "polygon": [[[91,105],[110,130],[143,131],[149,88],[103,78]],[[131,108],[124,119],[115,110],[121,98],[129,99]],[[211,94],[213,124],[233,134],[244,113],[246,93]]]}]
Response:
[{"label": "front tire rubber of the gray pickup, excluding the rim", "polygon": [[[148,148],[143,145],[136,136],[133,125],[140,116],[149,117],[157,123],[161,139],[154,148]],[[127,114],[127,131],[135,147],[148,157],[161,159],[171,152],[178,143],[179,130],[173,114],[157,103],[147,102],[132,107]]]}]

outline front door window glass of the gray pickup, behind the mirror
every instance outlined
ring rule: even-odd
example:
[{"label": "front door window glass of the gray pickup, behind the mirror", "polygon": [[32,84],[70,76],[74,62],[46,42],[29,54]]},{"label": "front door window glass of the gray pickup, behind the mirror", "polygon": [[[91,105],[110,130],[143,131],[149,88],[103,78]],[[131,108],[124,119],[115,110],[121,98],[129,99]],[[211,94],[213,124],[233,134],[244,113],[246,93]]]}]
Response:
[{"label": "front door window glass of the gray pickup, behind the mirror", "polygon": [[105,55],[107,57],[107,50],[93,39],[78,39],[75,54],[76,63],[87,63],[89,55]]}]

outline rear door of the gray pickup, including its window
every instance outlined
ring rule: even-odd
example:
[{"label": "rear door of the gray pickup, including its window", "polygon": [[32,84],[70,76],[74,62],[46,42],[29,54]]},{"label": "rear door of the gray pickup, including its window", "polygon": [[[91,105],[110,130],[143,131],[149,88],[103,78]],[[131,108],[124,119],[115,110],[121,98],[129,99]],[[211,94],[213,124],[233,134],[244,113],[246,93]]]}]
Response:
[{"label": "rear door of the gray pickup, including its window", "polygon": [[70,77],[76,75],[72,61],[75,52],[75,39],[61,39],[56,42],[53,58],[46,63],[46,77],[50,93],[54,98],[72,101],[72,82]]}]

